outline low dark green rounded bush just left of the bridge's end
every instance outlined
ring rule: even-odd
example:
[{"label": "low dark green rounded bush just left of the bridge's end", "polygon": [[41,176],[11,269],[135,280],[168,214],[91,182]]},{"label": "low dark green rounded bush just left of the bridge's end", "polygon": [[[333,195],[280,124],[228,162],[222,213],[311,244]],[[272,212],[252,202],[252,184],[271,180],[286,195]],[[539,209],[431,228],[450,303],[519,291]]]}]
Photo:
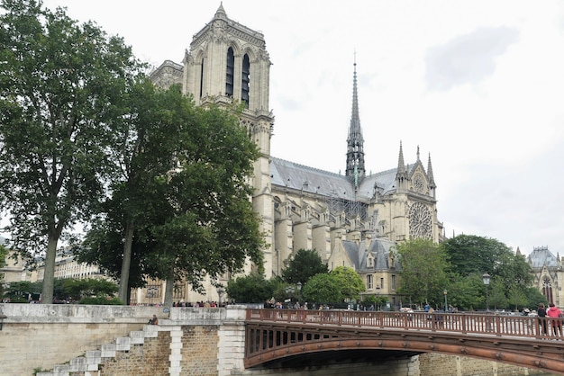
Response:
[{"label": "low dark green rounded bush just left of the bridge's end", "polygon": [[262,274],[250,273],[227,283],[227,296],[238,303],[264,303],[274,296],[280,281],[266,280]]}]

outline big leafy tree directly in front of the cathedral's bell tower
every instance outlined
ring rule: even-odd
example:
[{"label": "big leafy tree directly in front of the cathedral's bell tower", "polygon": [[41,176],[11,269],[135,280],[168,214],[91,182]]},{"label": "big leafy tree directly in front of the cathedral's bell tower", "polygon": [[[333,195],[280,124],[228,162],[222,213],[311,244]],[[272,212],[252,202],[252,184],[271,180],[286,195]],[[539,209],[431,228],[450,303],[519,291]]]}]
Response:
[{"label": "big leafy tree directly in front of the cathedral's bell tower", "polygon": [[205,276],[214,282],[240,273],[248,260],[263,273],[264,246],[249,200],[257,145],[231,111],[197,107],[179,92],[168,93],[181,149],[177,168],[159,180],[166,205],[149,228],[155,239],[150,263],[159,265],[154,277],[167,281],[165,303],[172,302],[175,281],[202,291]]}]

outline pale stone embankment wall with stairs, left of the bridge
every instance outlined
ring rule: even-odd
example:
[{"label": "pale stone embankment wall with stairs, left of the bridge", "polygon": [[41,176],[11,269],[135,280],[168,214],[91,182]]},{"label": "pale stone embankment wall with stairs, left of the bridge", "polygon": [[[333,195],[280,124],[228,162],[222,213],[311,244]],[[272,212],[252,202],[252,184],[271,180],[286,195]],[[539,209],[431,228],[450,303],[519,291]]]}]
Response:
[{"label": "pale stone embankment wall with stairs, left of the bridge", "polygon": [[[159,326],[146,325],[153,314]],[[238,306],[164,313],[156,307],[3,304],[0,315],[6,317],[1,375],[53,369],[40,374],[227,375],[242,368],[245,310]]]}]

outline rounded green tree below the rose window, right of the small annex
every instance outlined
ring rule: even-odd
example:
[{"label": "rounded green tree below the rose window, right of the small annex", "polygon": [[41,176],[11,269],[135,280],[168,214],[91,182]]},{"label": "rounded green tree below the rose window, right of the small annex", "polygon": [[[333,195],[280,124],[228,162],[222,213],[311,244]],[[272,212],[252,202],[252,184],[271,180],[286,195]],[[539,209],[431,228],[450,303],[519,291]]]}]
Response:
[{"label": "rounded green tree below the rose window, right of the small annex", "polygon": [[450,265],[441,246],[417,238],[398,246],[397,251],[402,265],[398,292],[411,301],[441,305],[442,291],[450,287]]}]

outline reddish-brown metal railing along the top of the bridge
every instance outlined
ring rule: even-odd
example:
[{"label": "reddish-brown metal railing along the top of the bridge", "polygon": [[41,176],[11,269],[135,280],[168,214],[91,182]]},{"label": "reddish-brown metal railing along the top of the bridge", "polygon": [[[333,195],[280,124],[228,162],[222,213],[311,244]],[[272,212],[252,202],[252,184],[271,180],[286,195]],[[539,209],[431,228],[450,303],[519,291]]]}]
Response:
[{"label": "reddish-brown metal railing along the top of the bridge", "polygon": [[[248,321],[448,331],[461,334],[564,338],[564,318],[536,318],[496,313],[391,312],[314,309],[247,309]],[[546,332],[544,328],[546,327]]]}]

